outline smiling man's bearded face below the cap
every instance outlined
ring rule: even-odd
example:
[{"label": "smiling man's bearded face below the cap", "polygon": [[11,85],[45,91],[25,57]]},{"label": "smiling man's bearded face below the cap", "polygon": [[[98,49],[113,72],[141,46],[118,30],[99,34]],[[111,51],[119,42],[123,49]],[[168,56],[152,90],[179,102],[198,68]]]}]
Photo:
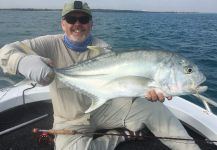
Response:
[{"label": "smiling man's bearded face below the cap", "polygon": [[87,38],[92,28],[92,20],[87,22],[88,17],[82,12],[72,12],[67,14],[65,19],[62,19],[62,29],[71,41],[80,43]]}]

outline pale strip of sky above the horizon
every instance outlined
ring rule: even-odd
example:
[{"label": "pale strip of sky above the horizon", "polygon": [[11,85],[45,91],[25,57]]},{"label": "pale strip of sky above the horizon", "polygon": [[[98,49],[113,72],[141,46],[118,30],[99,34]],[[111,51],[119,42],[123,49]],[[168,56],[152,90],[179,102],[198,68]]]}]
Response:
[{"label": "pale strip of sky above the horizon", "polygon": [[[62,9],[66,0],[0,0],[0,8]],[[217,13],[217,0],[85,0],[93,9]]]}]

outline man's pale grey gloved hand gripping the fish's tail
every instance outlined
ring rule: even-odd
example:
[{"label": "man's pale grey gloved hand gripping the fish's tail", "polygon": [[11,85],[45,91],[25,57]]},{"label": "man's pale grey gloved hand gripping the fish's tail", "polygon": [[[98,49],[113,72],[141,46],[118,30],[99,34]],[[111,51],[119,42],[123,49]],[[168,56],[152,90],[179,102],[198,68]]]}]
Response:
[{"label": "man's pale grey gloved hand gripping the fish's tail", "polygon": [[48,85],[55,77],[52,66],[52,61],[48,58],[28,55],[20,60],[18,71],[27,79],[36,81],[41,85]]}]

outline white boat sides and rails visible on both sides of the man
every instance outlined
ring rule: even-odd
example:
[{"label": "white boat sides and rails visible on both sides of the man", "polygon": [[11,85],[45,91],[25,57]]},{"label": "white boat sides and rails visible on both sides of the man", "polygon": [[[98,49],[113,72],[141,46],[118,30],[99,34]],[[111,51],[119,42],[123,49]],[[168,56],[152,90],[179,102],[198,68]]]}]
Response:
[{"label": "white boat sides and rails visible on both sides of the man", "polygon": [[[9,82],[13,83],[12,81]],[[217,108],[217,103],[202,95],[194,96],[202,101],[204,107],[198,106],[181,97],[173,97],[172,101],[165,101],[164,105],[187,127],[210,141],[217,141],[217,115],[211,110],[212,106]],[[39,101],[50,101],[49,88],[47,86],[35,86],[34,83],[21,81],[0,90],[0,113],[24,104]],[[7,132],[12,132],[21,126],[23,125],[0,131],[0,136]],[[213,144],[217,145],[217,142],[213,142]]]}]

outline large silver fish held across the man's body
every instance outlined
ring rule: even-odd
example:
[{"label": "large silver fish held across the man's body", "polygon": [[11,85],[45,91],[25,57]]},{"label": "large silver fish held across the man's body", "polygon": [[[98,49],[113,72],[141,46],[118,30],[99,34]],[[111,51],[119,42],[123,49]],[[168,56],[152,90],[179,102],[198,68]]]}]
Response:
[{"label": "large silver fish held across the man's body", "polygon": [[91,60],[56,70],[65,85],[86,94],[91,112],[117,97],[144,97],[150,89],[165,96],[195,94],[206,78],[198,67],[170,51],[109,52]]}]

